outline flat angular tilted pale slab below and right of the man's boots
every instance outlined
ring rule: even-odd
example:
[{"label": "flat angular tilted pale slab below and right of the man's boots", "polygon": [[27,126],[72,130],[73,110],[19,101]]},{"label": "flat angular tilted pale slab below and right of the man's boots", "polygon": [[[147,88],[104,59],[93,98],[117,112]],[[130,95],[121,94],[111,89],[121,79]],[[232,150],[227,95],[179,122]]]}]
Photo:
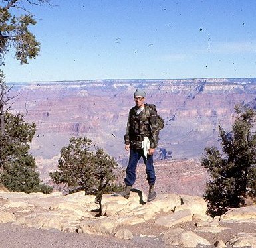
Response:
[{"label": "flat angular tilted pale slab below and right of the man's boots", "polygon": [[169,228],[186,221],[192,221],[190,210],[180,210],[174,214],[168,214],[167,216],[159,217],[156,219],[154,224]]}]

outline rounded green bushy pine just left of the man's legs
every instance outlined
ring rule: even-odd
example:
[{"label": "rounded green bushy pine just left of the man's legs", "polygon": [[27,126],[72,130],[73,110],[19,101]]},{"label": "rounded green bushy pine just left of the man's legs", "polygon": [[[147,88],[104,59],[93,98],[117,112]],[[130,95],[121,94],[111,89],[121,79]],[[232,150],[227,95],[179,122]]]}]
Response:
[{"label": "rounded green bushy pine just left of the man's legs", "polygon": [[85,194],[101,198],[102,194],[117,188],[114,183],[117,164],[103,149],[90,151],[91,147],[90,139],[70,138],[70,144],[61,149],[59,170],[51,172],[50,176],[56,184],[68,186],[70,193],[84,190]]}]

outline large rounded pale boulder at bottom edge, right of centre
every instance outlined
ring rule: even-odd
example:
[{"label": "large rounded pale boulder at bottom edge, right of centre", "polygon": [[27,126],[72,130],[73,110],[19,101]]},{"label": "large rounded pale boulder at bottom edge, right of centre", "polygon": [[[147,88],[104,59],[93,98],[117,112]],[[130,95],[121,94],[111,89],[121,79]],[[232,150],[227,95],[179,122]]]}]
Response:
[{"label": "large rounded pale boulder at bottom edge, right of centre", "polygon": [[192,231],[182,228],[170,229],[164,233],[164,241],[169,245],[182,247],[196,247],[197,245],[211,245],[207,239],[203,239]]}]

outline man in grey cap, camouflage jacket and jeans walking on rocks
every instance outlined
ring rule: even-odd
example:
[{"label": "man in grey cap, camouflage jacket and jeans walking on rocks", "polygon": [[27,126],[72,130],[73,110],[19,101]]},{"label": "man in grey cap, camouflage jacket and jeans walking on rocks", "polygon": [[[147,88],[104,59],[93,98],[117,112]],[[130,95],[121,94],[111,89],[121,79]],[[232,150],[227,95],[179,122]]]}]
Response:
[{"label": "man in grey cap, camouflage jacket and jeans walking on rocks", "polygon": [[[136,180],[136,166],[140,158],[146,165],[146,174],[149,184],[148,202],[156,198],[154,184],[156,175],[153,165],[153,154],[158,145],[158,119],[156,109],[149,107],[146,101],[146,92],[137,89],[134,92],[136,105],[130,109],[126,134],[124,135],[125,149],[130,150],[129,163],[126,168],[124,183],[126,188],[122,192],[115,192],[114,196],[129,198],[130,190]],[[147,116],[146,111],[149,111]]]}]

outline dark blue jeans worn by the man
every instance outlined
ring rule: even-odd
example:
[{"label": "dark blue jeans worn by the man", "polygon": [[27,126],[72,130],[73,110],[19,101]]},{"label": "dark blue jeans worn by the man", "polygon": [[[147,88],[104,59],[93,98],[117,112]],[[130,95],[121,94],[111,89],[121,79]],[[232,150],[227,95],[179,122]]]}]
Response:
[{"label": "dark blue jeans worn by the man", "polygon": [[129,164],[126,168],[126,178],[124,178],[124,183],[128,186],[132,186],[136,180],[136,167],[141,157],[146,165],[148,184],[152,185],[156,182],[153,155],[148,155],[146,159],[143,149],[130,149]]}]

